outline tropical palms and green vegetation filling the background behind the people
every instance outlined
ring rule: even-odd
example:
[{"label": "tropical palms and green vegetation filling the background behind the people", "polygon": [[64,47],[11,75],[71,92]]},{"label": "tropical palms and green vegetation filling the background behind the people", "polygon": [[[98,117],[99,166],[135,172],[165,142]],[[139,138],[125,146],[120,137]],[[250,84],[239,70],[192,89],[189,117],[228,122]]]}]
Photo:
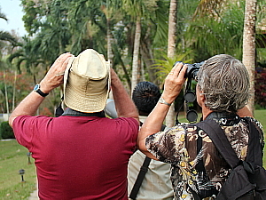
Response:
[{"label": "tropical palms and green vegetation filling the background behind the people", "polygon": [[[245,3],[245,0],[21,0],[27,36],[5,35],[0,30],[3,75],[0,112],[11,112],[62,52],[77,55],[93,48],[104,54],[129,93],[144,80],[162,89],[163,79],[176,61],[200,62],[218,53],[242,60]],[[266,3],[257,0],[255,4],[254,42],[259,41],[260,45],[249,60],[260,66],[249,68],[262,69],[255,76],[260,81],[253,81],[260,94],[256,93],[254,103],[265,108],[260,97],[266,94],[261,85],[261,80],[265,83],[262,67],[266,51],[262,48],[265,47],[262,36],[266,33]],[[7,20],[4,11],[0,20]],[[60,88],[53,91],[39,114],[52,116],[60,96]]]}]

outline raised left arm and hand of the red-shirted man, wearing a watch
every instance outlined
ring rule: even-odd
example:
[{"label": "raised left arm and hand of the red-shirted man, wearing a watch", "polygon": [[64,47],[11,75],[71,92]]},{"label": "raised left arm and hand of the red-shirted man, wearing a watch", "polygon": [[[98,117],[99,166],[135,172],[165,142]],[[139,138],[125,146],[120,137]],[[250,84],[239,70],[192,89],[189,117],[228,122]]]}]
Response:
[{"label": "raised left arm and hand of the red-shirted man, wearing a watch", "polygon": [[[64,72],[69,58],[73,56],[69,52],[63,53],[53,63],[46,76],[40,82],[40,89],[43,93],[49,93],[54,88],[63,84]],[[37,109],[43,102],[44,97],[37,92],[30,92],[27,97],[20,102],[17,108],[9,117],[9,124],[12,126],[14,119],[17,116],[35,116]]]}]

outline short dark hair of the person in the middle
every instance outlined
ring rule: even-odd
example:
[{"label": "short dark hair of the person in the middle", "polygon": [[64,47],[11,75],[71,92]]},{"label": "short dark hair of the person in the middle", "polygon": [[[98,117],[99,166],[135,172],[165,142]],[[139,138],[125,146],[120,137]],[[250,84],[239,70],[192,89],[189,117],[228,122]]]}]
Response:
[{"label": "short dark hair of the person in the middle", "polygon": [[147,81],[138,83],[132,93],[132,100],[138,109],[138,113],[142,116],[148,116],[159,99],[159,87]]}]

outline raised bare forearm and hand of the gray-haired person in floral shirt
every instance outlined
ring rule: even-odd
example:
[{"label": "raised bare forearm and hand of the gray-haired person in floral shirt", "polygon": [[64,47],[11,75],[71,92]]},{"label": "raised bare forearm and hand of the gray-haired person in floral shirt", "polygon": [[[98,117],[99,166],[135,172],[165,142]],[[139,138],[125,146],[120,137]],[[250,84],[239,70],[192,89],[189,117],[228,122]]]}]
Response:
[{"label": "raised bare forearm and hand of the gray-haired person in floral shirt", "polygon": [[[165,79],[164,91],[161,97],[169,104],[173,103],[178,94],[181,92],[185,78],[185,72],[187,67],[183,63],[178,63]],[[146,155],[153,159],[156,159],[145,147],[145,139],[147,136],[156,132],[160,132],[161,124],[163,123],[169,106],[157,103],[151,114],[146,118],[145,123],[142,125],[137,137],[138,148]]]}]

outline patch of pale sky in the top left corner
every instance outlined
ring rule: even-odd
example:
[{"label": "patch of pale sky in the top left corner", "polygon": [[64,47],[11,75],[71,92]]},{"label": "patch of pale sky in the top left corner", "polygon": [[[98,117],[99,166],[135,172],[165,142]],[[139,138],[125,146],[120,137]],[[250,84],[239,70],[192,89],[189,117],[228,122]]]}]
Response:
[{"label": "patch of pale sky in the top left corner", "polygon": [[8,21],[0,19],[0,31],[15,30],[19,36],[27,35],[23,24],[22,6],[20,0],[0,0],[1,12],[5,14]]}]

